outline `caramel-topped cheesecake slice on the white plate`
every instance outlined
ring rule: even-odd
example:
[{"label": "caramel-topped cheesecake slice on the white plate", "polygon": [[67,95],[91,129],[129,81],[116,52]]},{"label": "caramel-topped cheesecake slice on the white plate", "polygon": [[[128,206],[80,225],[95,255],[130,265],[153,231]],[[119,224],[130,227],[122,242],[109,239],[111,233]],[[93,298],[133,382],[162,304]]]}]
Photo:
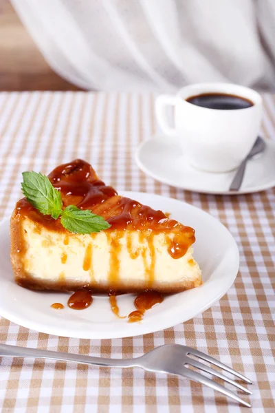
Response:
[{"label": "caramel-topped cheesecake slice on the white plate", "polygon": [[201,285],[192,257],[195,231],[135,200],[124,198],[98,179],[83,160],[48,176],[61,191],[63,208],[76,205],[101,215],[111,227],[99,233],[67,231],[60,218],[43,215],[25,198],[10,221],[15,281],[35,290],[176,293]]}]

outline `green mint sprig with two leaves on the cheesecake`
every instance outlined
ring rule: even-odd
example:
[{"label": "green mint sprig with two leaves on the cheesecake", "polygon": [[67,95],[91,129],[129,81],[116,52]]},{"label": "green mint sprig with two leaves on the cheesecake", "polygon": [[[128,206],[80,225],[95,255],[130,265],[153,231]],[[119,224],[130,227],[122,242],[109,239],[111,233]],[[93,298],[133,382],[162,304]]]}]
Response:
[{"label": "green mint sprig with two leaves on the cheesecake", "polygon": [[51,215],[54,220],[61,216],[61,224],[72,233],[89,234],[108,229],[111,225],[100,215],[88,209],[78,209],[69,205],[62,209],[61,193],[52,186],[50,179],[41,173],[23,172],[22,192],[25,198],[43,215]]}]

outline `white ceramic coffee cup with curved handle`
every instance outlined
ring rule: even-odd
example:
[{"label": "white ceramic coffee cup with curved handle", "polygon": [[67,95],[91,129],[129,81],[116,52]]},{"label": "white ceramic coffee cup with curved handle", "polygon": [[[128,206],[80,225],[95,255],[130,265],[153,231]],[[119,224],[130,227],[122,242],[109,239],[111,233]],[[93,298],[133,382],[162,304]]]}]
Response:
[{"label": "white ceramic coffee cup with curved handle", "polygon": [[[245,109],[210,109],[186,101],[191,96],[219,93],[252,101]],[[167,107],[173,106],[174,126],[168,123]],[[261,125],[261,95],[231,83],[188,85],[176,95],[160,95],[155,102],[159,126],[167,136],[177,137],[186,160],[198,169],[225,172],[238,167],[254,145]]]}]

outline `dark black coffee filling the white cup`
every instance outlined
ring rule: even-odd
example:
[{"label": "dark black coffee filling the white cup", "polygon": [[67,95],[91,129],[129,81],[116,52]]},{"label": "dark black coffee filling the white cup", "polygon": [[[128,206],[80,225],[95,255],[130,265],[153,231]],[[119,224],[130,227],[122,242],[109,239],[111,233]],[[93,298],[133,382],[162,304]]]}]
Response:
[{"label": "dark black coffee filling the white cup", "polygon": [[241,96],[223,94],[223,93],[203,93],[196,96],[191,96],[186,99],[186,102],[192,103],[192,105],[208,107],[209,109],[246,109],[251,107],[254,103]]}]

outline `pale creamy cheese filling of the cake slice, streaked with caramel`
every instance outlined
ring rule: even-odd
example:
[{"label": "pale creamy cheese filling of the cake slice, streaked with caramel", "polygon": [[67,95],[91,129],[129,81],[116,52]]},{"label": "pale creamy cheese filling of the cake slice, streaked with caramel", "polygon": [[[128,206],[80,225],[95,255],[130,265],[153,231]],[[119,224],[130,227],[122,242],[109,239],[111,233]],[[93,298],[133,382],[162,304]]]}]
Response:
[{"label": "pale creamy cheese filling of the cake slice, streaked with caramel", "polygon": [[144,282],[150,286],[153,282],[192,281],[201,275],[192,247],[174,259],[163,233],[149,237],[134,231],[66,235],[38,229],[28,218],[22,225],[26,245],[23,264],[35,279],[81,284]]}]

